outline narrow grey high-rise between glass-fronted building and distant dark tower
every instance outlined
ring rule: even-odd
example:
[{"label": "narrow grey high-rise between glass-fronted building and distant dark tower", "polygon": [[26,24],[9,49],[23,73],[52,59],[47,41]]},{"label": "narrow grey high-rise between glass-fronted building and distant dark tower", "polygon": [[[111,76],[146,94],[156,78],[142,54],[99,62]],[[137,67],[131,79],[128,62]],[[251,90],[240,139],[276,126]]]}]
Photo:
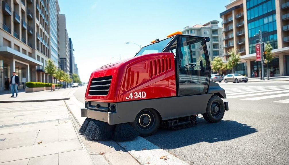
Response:
[{"label": "narrow grey high-rise between glass-fronted building and distant dark tower", "polygon": [[66,30],[66,18],[64,14],[59,14],[59,48],[60,48],[60,68],[66,72],[70,73],[70,55],[69,55],[69,39]]}]

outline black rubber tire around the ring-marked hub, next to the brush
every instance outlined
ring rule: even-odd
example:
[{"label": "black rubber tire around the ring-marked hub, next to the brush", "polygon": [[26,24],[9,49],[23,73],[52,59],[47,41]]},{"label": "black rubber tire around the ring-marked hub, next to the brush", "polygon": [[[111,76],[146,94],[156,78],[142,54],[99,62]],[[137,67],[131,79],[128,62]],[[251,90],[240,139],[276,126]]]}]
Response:
[{"label": "black rubber tire around the ring-marked hub, next to the brush", "polygon": [[[140,121],[140,117],[141,117],[140,115],[142,115],[142,114],[146,114],[151,119],[153,119],[154,123],[148,129],[142,129],[140,126],[139,121]],[[155,132],[157,132],[157,130],[160,127],[160,117],[155,110],[147,108],[147,109],[140,111],[140,113],[138,113],[138,115],[136,115],[136,119],[134,120],[134,122],[131,122],[130,124],[134,129],[136,129],[140,133],[140,136],[151,136],[151,135],[155,134]]]}]

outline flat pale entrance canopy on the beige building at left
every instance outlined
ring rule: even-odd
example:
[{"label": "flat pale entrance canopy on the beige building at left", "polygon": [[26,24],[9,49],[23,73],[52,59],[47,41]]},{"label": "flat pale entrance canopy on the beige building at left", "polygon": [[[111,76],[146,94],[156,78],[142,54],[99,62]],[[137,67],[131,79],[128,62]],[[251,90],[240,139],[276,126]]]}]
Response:
[{"label": "flat pale entrance canopy on the beige building at left", "polygon": [[37,61],[36,59],[29,57],[21,52],[18,52],[17,50],[14,50],[8,46],[1,46],[0,47],[0,54],[1,56],[4,56],[6,58],[14,58],[19,61],[23,61],[25,63],[29,63],[30,65],[41,65],[43,66],[43,63],[40,61]]}]

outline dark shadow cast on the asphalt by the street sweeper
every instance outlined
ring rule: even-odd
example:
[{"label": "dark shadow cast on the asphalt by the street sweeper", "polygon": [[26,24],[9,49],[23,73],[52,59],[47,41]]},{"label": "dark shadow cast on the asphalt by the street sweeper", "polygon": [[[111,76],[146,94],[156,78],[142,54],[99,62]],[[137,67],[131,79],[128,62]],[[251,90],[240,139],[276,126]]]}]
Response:
[{"label": "dark shadow cast on the asphalt by the street sweeper", "polygon": [[156,134],[144,138],[162,149],[175,149],[200,142],[231,140],[257,132],[256,128],[237,121],[208,123],[200,117],[196,121],[197,125],[179,130],[160,128]]}]

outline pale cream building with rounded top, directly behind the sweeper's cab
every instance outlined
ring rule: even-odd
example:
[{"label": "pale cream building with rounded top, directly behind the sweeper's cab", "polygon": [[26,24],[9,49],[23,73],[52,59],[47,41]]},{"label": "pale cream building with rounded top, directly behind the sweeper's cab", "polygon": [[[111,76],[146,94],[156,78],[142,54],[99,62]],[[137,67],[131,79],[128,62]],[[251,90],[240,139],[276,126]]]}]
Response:
[{"label": "pale cream building with rounded top, directly behind the sweeper's cab", "polygon": [[[207,43],[210,60],[216,56],[223,56],[222,27],[219,27],[218,23],[219,21],[212,20],[204,25],[187,26],[182,31],[183,34],[210,37],[210,42]],[[193,59],[197,60],[197,57]]]}]

